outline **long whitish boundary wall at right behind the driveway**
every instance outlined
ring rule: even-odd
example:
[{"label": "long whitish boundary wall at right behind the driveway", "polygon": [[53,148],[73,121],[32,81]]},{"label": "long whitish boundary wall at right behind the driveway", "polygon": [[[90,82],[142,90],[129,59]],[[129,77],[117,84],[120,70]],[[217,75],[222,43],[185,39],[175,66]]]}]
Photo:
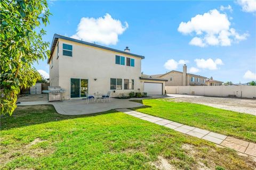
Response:
[{"label": "long whitish boundary wall at right behind the driveway", "polygon": [[165,86],[167,94],[188,94],[202,96],[219,96],[253,98],[256,97],[256,86]]}]

